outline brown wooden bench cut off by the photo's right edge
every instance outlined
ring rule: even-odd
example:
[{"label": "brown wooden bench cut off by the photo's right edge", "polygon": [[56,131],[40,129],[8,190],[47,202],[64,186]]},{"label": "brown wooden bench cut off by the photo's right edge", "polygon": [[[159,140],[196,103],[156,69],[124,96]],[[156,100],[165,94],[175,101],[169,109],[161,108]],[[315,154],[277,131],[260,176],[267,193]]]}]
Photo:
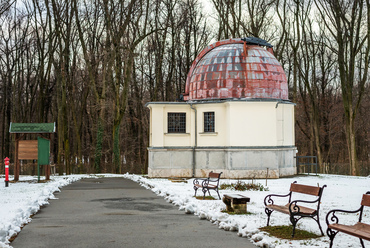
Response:
[{"label": "brown wooden bench cut off by the photo's right edge", "polygon": [[[328,225],[326,233],[330,238],[330,248],[333,246],[333,240],[338,232],[343,232],[359,238],[362,247],[365,248],[363,239],[370,241],[370,225],[361,222],[365,206],[370,207],[370,191],[362,196],[361,207],[359,209],[354,211],[334,209],[328,212],[326,215],[326,224]],[[358,222],[354,225],[339,224],[339,219],[336,215],[336,213],[339,212],[345,214],[358,213]]]}]

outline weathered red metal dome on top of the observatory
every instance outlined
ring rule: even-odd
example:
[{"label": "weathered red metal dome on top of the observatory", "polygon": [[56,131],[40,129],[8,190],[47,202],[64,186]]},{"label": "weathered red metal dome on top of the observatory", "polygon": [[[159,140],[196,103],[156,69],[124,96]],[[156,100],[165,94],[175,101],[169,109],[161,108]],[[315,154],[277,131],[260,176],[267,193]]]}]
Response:
[{"label": "weathered red metal dome on top of the observatory", "polygon": [[190,68],[184,100],[288,100],[285,72],[271,47],[266,50],[244,39],[223,40],[208,46]]}]

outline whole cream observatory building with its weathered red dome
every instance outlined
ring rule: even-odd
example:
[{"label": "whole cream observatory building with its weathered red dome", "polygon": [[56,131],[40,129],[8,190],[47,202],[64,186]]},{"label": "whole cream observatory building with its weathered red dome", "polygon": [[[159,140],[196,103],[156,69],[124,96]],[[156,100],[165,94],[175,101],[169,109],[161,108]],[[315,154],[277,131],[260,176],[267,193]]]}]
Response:
[{"label": "whole cream observatory building with its weathered red dome", "polygon": [[218,41],[195,59],[180,102],[149,102],[149,177],[296,174],[294,106],[272,46]]}]

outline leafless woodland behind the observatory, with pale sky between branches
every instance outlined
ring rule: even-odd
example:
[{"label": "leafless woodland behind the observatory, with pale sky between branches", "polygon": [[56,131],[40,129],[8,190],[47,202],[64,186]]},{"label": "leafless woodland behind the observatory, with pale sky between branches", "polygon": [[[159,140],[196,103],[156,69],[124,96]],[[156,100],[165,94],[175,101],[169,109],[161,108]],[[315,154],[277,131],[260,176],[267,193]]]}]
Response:
[{"label": "leafless woodland behind the observatory, with pale sky between branches", "polygon": [[176,101],[210,43],[254,36],[286,71],[298,155],[318,156],[323,173],[367,176],[369,9],[370,0],[1,0],[0,157],[14,162],[10,122],[56,122],[59,173],[146,173],[145,103]]}]

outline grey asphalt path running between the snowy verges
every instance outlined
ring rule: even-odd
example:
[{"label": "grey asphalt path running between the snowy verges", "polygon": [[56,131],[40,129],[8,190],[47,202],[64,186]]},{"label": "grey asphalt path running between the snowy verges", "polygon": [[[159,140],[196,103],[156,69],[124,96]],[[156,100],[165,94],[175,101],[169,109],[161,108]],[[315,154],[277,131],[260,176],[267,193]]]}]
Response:
[{"label": "grey asphalt path running between the snowy verges", "polygon": [[14,248],[255,248],[128,179],[83,179],[55,196],[19,233]]}]

